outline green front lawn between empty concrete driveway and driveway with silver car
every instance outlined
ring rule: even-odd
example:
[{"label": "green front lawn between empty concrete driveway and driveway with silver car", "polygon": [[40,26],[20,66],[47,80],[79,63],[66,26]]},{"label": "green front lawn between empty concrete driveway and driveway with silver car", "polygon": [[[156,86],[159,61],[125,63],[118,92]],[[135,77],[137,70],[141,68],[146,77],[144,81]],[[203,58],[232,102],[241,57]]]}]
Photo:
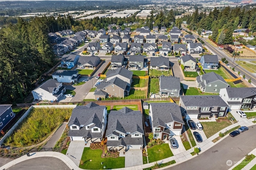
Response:
[{"label": "green front lawn between empty concrete driveway and driveway with silver car", "polygon": [[173,156],[170,146],[167,143],[159,144],[148,148],[148,162],[155,162]]}]

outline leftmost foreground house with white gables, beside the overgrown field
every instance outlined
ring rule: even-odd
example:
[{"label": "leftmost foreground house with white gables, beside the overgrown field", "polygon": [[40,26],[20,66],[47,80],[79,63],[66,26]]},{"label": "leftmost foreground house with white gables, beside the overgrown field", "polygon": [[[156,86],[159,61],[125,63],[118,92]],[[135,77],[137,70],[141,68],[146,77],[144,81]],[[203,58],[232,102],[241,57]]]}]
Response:
[{"label": "leftmost foreground house with white gables, beside the overgrown field", "polygon": [[84,140],[86,144],[100,142],[107,125],[107,108],[90,102],[76,106],[70,117],[70,140]]}]

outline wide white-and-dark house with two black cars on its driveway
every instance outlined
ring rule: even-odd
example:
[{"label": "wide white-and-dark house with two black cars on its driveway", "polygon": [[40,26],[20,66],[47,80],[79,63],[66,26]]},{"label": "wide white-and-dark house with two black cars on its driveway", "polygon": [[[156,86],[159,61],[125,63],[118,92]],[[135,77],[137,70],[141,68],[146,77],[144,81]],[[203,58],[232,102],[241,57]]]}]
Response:
[{"label": "wide white-and-dark house with two black cars on its driveway", "polygon": [[218,95],[180,96],[180,110],[185,119],[226,117],[228,105]]}]

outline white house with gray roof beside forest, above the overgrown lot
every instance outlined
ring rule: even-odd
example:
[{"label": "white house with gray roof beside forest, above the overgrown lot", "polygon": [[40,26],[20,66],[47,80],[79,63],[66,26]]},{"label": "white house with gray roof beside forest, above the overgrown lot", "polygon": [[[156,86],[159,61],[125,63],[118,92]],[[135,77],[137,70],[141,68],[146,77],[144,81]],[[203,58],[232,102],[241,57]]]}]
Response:
[{"label": "white house with gray roof beside forest, above the overgrown lot", "polygon": [[57,80],[49,79],[36,89],[32,90],[34,100],[39,101],[59,101],[65,93],[66,88]]}]

